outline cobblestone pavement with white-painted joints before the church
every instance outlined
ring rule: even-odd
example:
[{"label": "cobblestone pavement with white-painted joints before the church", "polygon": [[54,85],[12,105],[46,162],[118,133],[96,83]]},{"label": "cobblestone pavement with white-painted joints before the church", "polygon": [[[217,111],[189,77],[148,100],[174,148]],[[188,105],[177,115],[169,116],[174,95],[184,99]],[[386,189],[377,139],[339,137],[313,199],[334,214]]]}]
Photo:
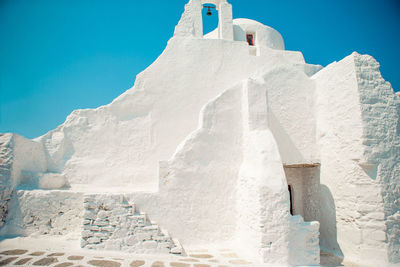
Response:
[{"label": "cobblestone pavement with white-painted joints before the church", "polygon": [[257,266],[241,259],[229,249],[192,250],[186,256],[106,255],[104,251],[81,253],[9,248],[0,250],[0,266],[52,266],[52,267],[227,267]]}]

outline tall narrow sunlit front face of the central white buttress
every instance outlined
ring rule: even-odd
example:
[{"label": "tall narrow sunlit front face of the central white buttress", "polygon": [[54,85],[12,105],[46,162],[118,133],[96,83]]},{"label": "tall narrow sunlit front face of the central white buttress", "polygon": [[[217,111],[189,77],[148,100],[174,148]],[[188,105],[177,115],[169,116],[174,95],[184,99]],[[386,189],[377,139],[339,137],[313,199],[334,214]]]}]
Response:
[{"label": "tall narrow sunlit front face of the central white buttress", "polygon": [[249,256],[284,265],[289,261],[289,197],[278,148],[268,129],[266,86],[250,80],[243,91],[237,244],[247,244],[241,250]]}]

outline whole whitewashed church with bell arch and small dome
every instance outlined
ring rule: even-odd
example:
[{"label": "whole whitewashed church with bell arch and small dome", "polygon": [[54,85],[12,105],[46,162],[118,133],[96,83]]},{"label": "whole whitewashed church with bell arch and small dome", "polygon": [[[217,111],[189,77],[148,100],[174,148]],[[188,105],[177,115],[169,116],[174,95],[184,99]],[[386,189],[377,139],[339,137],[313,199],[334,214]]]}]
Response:
[{"label": "whole whitewashed church with bell arch and small dome", "polygon": [[[207,35],[203,8],[219,18]],[[307,64],[226,0],[190,0],[112,103],[34,140],[0,135],[0,234],[133,254],[224,247],[254,266],[400,266],[399,116],[371,56]]]}]

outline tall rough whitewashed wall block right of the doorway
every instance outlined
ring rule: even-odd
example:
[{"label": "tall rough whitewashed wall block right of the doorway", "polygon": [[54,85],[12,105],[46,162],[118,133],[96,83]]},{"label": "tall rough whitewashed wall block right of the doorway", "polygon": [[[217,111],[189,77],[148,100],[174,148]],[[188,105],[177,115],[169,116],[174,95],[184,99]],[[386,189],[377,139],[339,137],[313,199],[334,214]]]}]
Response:
[{"label": "tall rough whitewashed wall block right of the doorway", "polygon": [[381,77],[379,64],[357,53],[313,79],[321,152],[321,250],[349,264],[396,264],[398,97]]}]

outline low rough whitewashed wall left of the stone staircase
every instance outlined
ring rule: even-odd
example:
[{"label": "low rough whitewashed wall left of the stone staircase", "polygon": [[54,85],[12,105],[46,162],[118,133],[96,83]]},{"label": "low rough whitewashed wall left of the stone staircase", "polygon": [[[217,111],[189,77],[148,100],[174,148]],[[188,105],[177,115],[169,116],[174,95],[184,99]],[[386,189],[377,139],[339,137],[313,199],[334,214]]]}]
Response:
[{"label": "low rough whitewashed wall left of the stone staircase", "polygon": [[67,235],[79,238],[83,195],[68,191],[17,190],[1,236]]}]

